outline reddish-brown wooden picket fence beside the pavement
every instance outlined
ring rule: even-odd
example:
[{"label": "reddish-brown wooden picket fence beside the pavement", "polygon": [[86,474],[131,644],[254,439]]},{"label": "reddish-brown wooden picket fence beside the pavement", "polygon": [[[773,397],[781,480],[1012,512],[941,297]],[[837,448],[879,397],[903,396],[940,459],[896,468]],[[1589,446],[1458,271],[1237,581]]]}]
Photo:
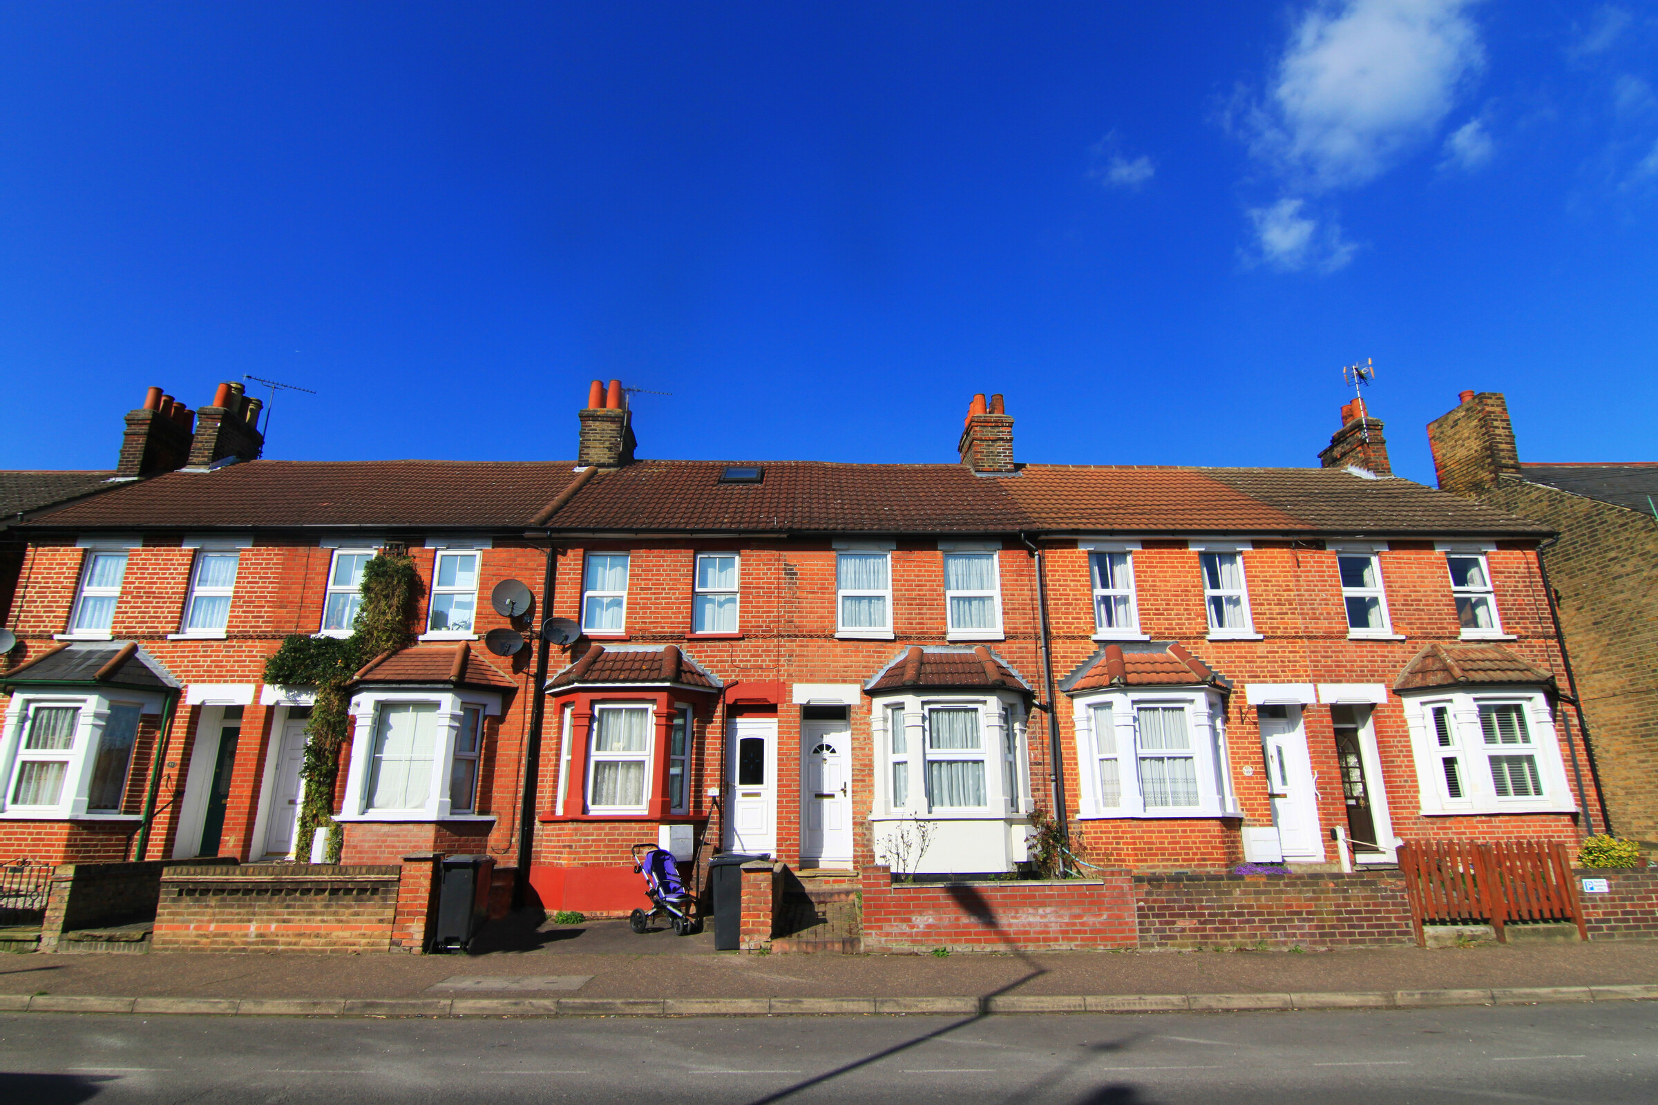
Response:
[{"label": "reddish-brown wooden picket fence beside the pavement", "polygon": [[1500,943],[1512,921],[1575,921],[1588,939],[1572,876],[1572,855],[1550,840],[1419,840],[1399,845],[1416,943],[1424,924],[1489,923]]}]

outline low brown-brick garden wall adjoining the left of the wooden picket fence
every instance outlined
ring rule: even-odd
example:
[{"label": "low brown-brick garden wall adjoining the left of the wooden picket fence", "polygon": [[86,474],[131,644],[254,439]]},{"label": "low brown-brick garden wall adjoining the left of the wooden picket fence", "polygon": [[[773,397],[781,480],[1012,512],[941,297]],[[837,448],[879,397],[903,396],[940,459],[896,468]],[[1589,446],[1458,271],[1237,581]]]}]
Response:
[{"label": "low brown-brick garden wall adjoining the left of the wooden picket fence", "polygon": [[1139,875],[1141,948],[1414,944],[1396,873]]}]

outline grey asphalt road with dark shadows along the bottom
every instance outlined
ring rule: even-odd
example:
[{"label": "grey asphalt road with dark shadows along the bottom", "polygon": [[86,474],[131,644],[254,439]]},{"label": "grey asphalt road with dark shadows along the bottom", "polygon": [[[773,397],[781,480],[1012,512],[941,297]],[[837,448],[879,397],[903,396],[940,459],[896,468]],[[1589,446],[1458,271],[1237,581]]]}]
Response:
[{"label": "grey asphalt road with dark shadows along the bottom", "polygon": [[0,1017],[0,1102],[1658,1100],[1658,1002],[1162,1016]]}]

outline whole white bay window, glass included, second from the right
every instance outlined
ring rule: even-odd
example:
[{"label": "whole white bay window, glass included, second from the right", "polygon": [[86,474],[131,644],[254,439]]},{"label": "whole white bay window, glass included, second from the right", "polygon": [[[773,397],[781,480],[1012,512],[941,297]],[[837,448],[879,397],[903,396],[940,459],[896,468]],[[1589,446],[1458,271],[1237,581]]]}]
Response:
[{"label": "whole white bay window, glass included, second from the right", "polygon": [[1235,815],[1224,716],[1210,691],[1079,697],[1081,817]]}]

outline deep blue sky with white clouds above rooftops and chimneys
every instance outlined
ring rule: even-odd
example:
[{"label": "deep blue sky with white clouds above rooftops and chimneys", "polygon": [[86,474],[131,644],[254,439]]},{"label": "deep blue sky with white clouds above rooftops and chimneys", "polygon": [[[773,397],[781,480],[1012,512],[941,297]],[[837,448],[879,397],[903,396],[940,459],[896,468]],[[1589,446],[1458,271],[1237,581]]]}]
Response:
[{"label": "deep blue sky with white clouds above rooftops and chimneys", "polygon": [[[0,7],[0,467],[148,384],[267,456],[1658,459],[1658,5]],[[255,394],[264,394],[262,389]]]}]

